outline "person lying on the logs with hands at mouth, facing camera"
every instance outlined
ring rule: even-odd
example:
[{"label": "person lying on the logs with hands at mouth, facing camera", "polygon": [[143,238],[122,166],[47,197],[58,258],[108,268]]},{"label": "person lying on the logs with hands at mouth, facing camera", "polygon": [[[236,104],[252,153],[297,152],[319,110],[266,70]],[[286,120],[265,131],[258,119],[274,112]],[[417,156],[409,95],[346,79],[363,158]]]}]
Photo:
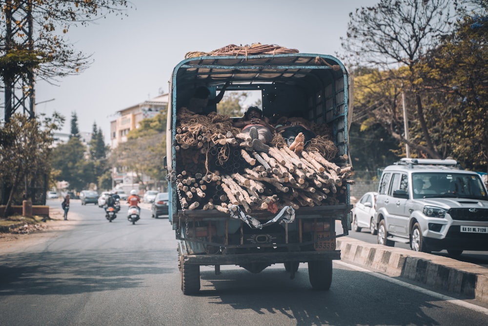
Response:
[{"label": "person lying on the logs with hands at mouth, facing camera", "polygon": [[244,116],[234,122],[234,127],[242,128],[243,133],[249,133],[252,146],[257,152],[268,152],[269,143],[273,140],[274,127],[269,124],[269,119],[263,115],[258,107],[249,107]]}]

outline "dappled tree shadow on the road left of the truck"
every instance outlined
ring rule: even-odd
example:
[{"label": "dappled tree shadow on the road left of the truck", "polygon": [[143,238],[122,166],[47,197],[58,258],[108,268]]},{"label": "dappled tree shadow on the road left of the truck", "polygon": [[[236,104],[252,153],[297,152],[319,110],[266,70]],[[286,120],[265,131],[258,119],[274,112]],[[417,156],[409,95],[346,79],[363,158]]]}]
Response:
[{"label": "dappled tree shadow on the road left of the truck", "polygon": [[74,294],[143,286],[144,274],[175,272],[177,265],[171,263],[174,257],[174,250],[161,249],[6,255],[0,261],[0,296]]}]

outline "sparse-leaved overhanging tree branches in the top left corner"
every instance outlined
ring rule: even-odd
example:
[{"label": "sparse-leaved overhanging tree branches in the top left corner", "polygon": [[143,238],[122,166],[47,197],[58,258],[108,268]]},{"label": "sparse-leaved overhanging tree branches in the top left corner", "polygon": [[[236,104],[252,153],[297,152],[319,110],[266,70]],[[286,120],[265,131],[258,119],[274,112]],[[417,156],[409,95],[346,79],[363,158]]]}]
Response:
[{"label": "sparse-leaved overhanging tree branches in the top left corner", "polygon": [[[120,15],[128,3],[126,0],[4,1],[0,7],[2,81],[33,69],[39,78],[47,81],[80,73],[90,64],[90,55],[75,51],[73,44],[65,39],[66,33],[72,26],[88,25],[112,13]],[[29,13],[25,18],[5,20],[20,7]],[[24,42],[27,26],[32,27],[32,35],[29,42]],[[17,33],[12,35],[11,30]]]}]

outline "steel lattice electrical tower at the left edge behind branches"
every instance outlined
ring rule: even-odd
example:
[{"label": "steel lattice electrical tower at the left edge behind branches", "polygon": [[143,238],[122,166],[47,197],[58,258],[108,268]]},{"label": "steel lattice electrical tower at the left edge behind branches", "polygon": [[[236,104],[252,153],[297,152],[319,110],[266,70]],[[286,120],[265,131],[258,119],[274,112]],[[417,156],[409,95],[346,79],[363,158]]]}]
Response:
[{"label": "steel lattice electrical tower at the left edge behind branches", "polygon": [[[14,2],[14,3],[13,3]],[[32,0],[6,0],[5,8],[5,55],[14,55],[18,60],[21,53],[34,50],[32,38]],[[6,63],[3,72],[5,84],[5,122],[16,111],[22,110],[34,119],[34,71],[29,63],[12,60]]]}]

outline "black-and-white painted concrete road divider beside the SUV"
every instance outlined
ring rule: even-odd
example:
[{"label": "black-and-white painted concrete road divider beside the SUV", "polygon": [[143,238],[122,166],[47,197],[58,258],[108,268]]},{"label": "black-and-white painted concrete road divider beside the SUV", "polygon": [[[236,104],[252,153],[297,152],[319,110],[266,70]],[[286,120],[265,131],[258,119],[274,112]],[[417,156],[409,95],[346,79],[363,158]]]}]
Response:
[{"label": "black-and-white painted concrete road divider beside the SUV", "polygon": [[488,302],[488,269],[482,266],[440,256],[434,262],[427,253],[347,237],[337,239],[337,249],[344,261]]}]

